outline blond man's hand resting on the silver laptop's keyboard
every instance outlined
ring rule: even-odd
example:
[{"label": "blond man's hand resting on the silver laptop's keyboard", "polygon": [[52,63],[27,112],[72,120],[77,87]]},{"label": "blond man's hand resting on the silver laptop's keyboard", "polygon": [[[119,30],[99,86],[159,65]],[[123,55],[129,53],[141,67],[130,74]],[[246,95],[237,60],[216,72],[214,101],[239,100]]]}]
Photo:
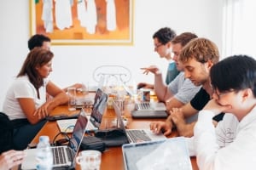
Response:
[{"label": "blond man's hand resting on the silver laptop's keyboard", "polygon": [[172,133],[172,124],[167,123],[167,122],[151,122],[150,125],[150,130],[153,133],[160,133],[163,132],[165,136],[168,136],[169,134]]}]

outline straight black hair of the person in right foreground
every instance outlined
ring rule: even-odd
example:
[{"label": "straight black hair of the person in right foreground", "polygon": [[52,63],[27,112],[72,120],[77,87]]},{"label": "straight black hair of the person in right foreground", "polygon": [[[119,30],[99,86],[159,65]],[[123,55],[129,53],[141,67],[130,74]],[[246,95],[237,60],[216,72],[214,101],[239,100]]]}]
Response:
[{"label": "straight black hair of the person in right foreground", "polygon": [[247,55],[233,55],[213,65],[210,71],[212,88],[219,92],[246,88],[256,97],[256,60]]}]

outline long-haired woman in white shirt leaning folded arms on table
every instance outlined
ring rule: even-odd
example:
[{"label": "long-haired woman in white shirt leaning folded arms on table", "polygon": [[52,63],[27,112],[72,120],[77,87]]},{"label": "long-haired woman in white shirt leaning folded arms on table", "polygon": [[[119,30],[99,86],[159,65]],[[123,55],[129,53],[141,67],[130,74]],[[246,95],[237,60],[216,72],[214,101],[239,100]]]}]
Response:
[{"label": "long-haired woman in white shirt leaning folded arms on table", "polygon": [[[7,92],[3,112],[15,126],[15,150],[25,149],[44,126],[49,112],[67,103],[67,94],[48,79],[53,57],[47,49],[33,48]],[[53,98],[46,101],[46,94]]]}]

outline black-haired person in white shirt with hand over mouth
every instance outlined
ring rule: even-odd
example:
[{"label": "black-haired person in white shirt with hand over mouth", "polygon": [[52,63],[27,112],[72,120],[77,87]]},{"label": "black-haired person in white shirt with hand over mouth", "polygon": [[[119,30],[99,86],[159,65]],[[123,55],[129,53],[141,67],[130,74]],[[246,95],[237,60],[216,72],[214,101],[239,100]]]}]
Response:
[{"label": "black-haired person in white shirt with hand over mouth", "polygon": [[[212,99],[199,112],[191,143],[198,167],[212,170],[254,169],[256,60],[247,55],[231,56],[213,65],[210,77]],[[215,128],[212,117],[220,112],[226,114]]]}]

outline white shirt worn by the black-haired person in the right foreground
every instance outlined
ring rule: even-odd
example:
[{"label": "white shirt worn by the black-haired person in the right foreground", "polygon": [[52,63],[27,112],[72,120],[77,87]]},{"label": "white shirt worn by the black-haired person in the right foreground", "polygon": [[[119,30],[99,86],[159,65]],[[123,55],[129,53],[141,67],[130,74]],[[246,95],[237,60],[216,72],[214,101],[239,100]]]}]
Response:
[{"label": "white shirt worn by the black-haired person in the right foreground", "polygon": [[[200,111],[194,138],[188,140],[190,156],[201,170],[256,168],[256,107],[238,122],[225,114],[216,129],[212,111]],[[194,153],[193,153],[194,152]]]}]

